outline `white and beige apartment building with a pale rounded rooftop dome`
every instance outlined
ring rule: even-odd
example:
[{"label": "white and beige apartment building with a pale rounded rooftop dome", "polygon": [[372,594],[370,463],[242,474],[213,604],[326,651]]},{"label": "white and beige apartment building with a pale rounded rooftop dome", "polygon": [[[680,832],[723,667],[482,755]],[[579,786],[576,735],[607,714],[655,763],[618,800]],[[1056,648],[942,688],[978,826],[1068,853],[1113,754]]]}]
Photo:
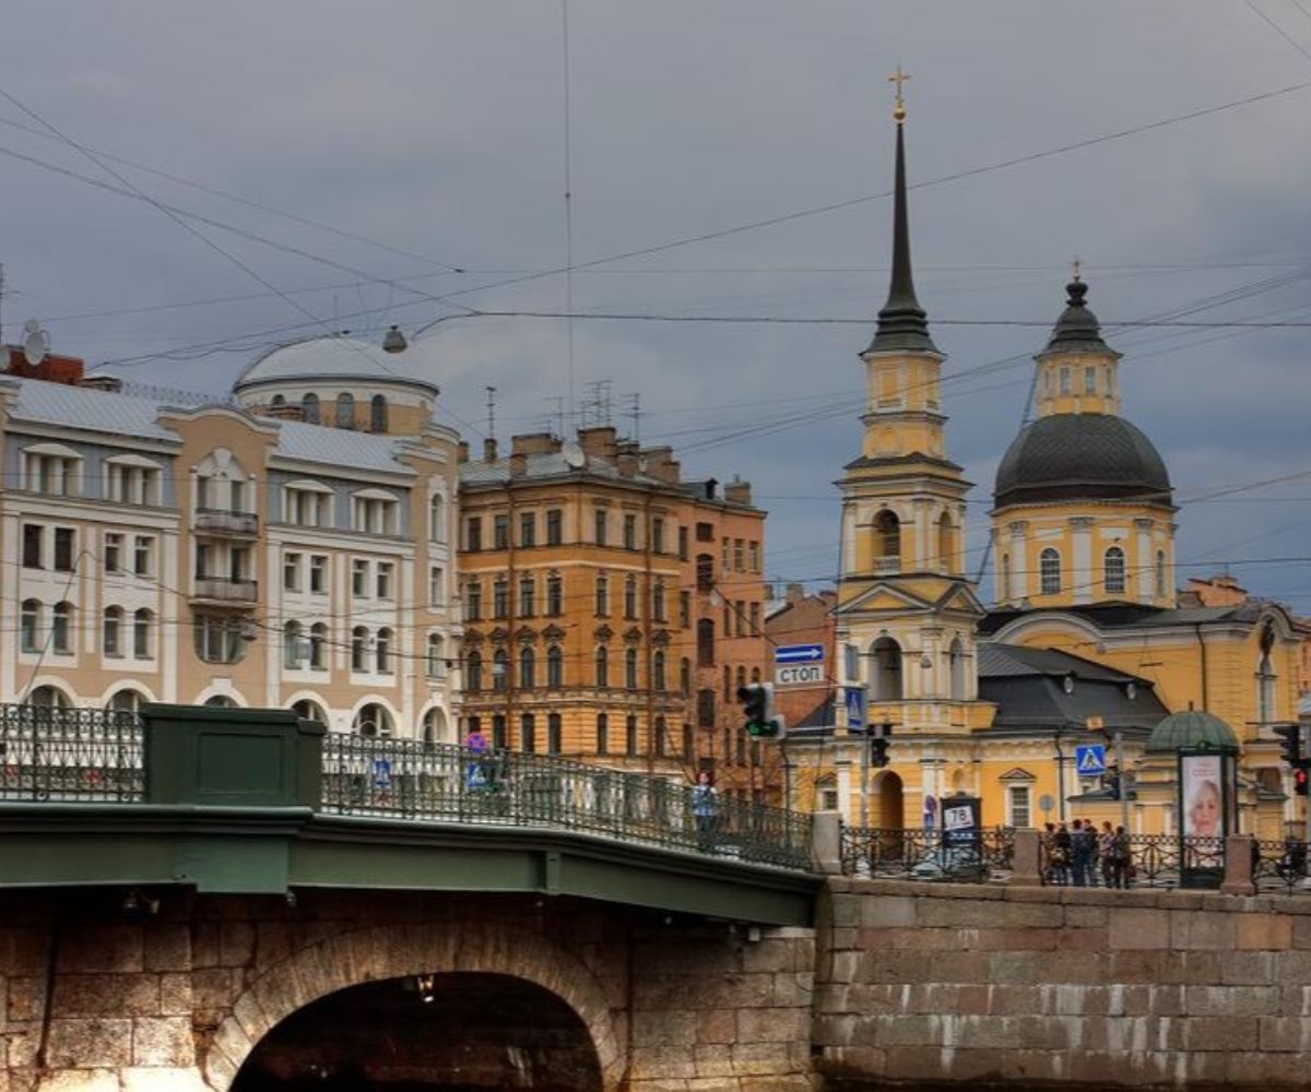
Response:
[{"label": "white and beige apartment building with a pale rounded rooftop dome", "polygon": [[406,364],[319,338],[189,408],[10,364],[0,701],[281,707],[454,741],[458,437]]}]

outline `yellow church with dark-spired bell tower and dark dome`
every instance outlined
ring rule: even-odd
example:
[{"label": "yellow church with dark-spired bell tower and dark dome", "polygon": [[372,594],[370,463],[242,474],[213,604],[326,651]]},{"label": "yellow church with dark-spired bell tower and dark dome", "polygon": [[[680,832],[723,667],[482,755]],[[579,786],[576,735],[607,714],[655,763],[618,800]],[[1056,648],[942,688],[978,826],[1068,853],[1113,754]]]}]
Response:
[{"label": "yellow church with dark-spired bell tower and dark dome", "polygon": [[[1273,729],[1298,717],[1306,628],[1276,603],[1177,590],[1169,475],[1121,413],[1121,358],[1078,271],[1034,357],[1034,419],[998,467],[991,608],[965,574],[970,485],[947,455],[945,357],[911,278],[901,106],[895,117],[891,284],[861,354],[860,455],[838,482],[836,687],[823,722],[789,742],[794,802],[905,829],[965,793],[988,827],[1124,817],[1130,832],[1173,832],[1177,759],[1152,733],[1198,711],[1238,750],[1239,827],[1283,836],[1302,809]],[[884,770],[851,730],[852,691],[886,725]],[[1117,743],[1122,777],[1078,750],[1101,745],[1114,763]]]}]

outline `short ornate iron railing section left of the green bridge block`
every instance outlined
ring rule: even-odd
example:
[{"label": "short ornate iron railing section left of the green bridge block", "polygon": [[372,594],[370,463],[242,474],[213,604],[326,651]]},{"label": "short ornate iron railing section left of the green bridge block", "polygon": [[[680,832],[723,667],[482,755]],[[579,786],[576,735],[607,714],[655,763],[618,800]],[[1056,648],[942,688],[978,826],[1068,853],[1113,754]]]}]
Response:
[{"label": "short ornate iron railing section left of the green bridge block", "polygon": [[140,801],[135,713],[0,705],[0,800]]}]

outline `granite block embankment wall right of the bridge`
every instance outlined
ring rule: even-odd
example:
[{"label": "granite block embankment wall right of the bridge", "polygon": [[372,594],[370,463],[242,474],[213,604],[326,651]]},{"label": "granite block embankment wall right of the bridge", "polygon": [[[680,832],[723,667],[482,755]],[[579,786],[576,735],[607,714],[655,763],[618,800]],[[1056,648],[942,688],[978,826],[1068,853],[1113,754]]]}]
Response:
[{"label": "granite block embankment wall right of the bridge", "polygon": [[1304,1087],[1311,898],[834,878],[814,1043],[839,1084]]}]

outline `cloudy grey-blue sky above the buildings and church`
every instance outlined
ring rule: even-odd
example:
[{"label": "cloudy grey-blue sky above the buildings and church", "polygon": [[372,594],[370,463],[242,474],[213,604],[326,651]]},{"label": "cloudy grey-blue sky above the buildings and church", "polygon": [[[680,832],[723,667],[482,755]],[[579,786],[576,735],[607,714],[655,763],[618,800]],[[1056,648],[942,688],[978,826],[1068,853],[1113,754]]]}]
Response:
[{"label": "cloudy grey-blue sky above the buildings and church", "polygon": [[[399,324],[475,447],[488,385],[503,443],[608,381],[623,431],[751,481],[767,574],[810,587],[901,64],[971,568],[1078,256],[1180,579],[1227,564],[1311,615],[1311,0],[9,0],[5,31],[7,341],[35,317],[92,367],[223,392],[282,341]],[[1116,325],[1163,316],[1265,325]]]}]

